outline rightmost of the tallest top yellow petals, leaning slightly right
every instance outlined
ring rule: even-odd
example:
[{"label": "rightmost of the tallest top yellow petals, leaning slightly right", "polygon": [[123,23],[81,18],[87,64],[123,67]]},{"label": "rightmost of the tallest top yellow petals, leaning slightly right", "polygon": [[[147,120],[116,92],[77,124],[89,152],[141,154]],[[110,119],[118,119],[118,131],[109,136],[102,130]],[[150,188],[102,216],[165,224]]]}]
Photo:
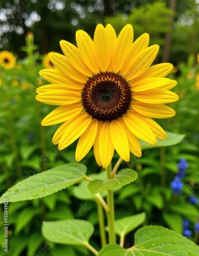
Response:
[{"label": "rightmost of the tallest top yellow petals, leaning slightly right", "polygon": [[122,61],[125,53],[128,51],[134,38],[134,31],[132,26],[127,24],[120,32],[113,54],[113,71],[117,73],[122,66]]}]

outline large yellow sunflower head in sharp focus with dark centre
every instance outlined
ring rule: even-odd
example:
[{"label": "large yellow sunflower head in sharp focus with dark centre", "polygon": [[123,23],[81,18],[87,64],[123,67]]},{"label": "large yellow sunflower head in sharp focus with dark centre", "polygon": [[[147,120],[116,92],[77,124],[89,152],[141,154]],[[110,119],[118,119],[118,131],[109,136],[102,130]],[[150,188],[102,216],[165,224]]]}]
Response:
[{"label": "large yellow sunflower head in sharp focus with dark centre", "polygon": [[77,47],[61,40],[65,56],[50,53],[55,69],[40,75],[52,84],[37,89],[36,99],[60,105],[41,122],[63,122],[53,136],[59,150],[77,140],[76,161],[94,146],[97,163],[108,166],[116,150],[129,161],[129,152],[141,157],[138,138],[150,144],[167,138],[152,118],[168,118],[175,112],[165,105],[179,97],[169,90],[176,81],[164,78],[170,63],[151,64],[159,46],[148,47],[148,34],[132,44],[133,29],[126,25],[119,36],[111,25],[99,24],[94,40],[82,30],[76,32]]}]

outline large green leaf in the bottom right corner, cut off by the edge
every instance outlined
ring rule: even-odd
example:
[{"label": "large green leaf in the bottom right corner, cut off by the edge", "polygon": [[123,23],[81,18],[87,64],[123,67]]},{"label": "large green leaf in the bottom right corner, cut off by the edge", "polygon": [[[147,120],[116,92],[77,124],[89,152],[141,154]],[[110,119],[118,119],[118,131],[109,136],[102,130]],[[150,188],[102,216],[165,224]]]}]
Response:
[{"label": "large green leaf in the bottom right corner, cut off by the edge", "polygon": [[124,249],[117,244],[104,246],[99,256],[196,256],[199,248],[192,241],[160,226],[145,226],[135,233],[135,244]]}]

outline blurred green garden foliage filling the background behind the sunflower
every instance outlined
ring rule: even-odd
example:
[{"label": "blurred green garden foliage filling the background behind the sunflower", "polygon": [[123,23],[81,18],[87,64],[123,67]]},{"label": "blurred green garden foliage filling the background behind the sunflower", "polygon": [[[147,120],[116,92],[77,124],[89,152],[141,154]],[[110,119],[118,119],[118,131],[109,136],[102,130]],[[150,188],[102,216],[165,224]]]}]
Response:
[{"label": "blurred green garden foliage filling the background behind the sunflower", "polygon": [[[189,228],[194,232],[199,215],[198,201],[193,204],[189,199],[193,195],[199,199],[199,57],[196,59],[199,52],[199,2],[0,0],[0,5],[0,52],[8,50],[17,57],[15,68],[0,69],[0,192],[3,194],[13,184],[31,175],[75,161],[77,142],[59,152],[52,144],[58,125],[40,125],[43,117],[54,109],[35,100],[36,88],[47,84],[38,75],[44,68],[42,54],[60,52],[61,39],[75,44],[78,29],[84,29],[93,37],[98,23],[112,24],[117,33],[130,23],[135,38],[148,32],[150,44],[161,46],[156,63],[167,59],[175,66],[169,78],[178,81],[174,92],[180,100],[169,105],[176,111],[176,116],[158,122],[165,131],[186,137],[178,145],[143,150],[142,158],[131,155],[129,163],[122,163],[121,168],[136,169],[139,179],[115,192],[116,219],[145,211],[144,225],[162,225],[183,233],[183,219],[187,218]],[[29,31],[34,34],[34,44]],[[182,157],[188,167],[182,178],[183,188],[180,193],[175,193],[170,184],[179,172]],[[117,159],[115,153],[113,164]],[[93,151],[81,163],[87,165],[88,174],[102,171],[95,162]],[[80,200],[83,195],[75,186],[40,200],[9,204],[10,255],[91,255],[85,248],[55,245],[42,237],[43,220],[72,218],[89,220],[95,225],[91,244],[100,249],[97,208],[91,198],[86,198],[86,187],[84,189],[84,201]],[[8,255],[3,250],[2,213],[0,208],[0,256]],[[125,247],[132,246],[133,235],[134,231],[129,233]],[[191,234],[190,239],[198,243],[196,233]]]}]

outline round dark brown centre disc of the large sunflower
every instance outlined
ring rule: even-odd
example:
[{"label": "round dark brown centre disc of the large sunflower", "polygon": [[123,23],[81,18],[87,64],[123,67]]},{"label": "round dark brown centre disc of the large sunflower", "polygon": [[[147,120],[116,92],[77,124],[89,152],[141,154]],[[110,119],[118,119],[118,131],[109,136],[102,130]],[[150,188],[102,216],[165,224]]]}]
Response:
[{"label": "round dark brown centre disc of the large sunflower", "polygon": [[81,97],[85,111],[93,118],[112,121],[129,109],[132,93],[122,76],[101,72],[86,81]]}]

